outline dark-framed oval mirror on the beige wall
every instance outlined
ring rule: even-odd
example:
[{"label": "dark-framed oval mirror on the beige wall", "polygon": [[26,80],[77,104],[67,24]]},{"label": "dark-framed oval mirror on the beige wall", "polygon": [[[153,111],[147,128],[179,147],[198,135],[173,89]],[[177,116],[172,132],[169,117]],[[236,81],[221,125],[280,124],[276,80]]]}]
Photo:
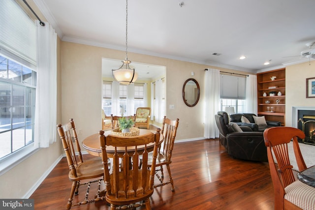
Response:
[{"label": "dark-framed oval mirror on the beige wall", "polygon": [[200,87],[195,79],[189,78],[183,86],[183,100],[187,106],[195,106],[200,97]]}]

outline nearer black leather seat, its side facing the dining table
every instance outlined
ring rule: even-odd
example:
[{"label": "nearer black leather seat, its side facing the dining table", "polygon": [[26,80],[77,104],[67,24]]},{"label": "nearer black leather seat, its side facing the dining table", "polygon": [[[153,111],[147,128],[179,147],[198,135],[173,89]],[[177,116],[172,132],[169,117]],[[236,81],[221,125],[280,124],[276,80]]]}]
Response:
[{"label": "nearer black leather seat, its side facing the dining table", "polygon": [[239,126],[242,132],[237,132],[228,120],[226,112],[215,115],[220,131],[220,142],[228,154],[236,159],[268,162],[267,149],[263,133],[253,132],[248,126]]}]

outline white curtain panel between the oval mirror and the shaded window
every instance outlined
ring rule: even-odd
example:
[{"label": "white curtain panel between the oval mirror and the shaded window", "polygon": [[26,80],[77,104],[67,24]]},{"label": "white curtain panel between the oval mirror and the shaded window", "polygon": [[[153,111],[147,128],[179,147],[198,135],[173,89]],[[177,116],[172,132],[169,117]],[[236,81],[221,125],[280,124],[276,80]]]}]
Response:
[{"label": "white curtain panel between the oval mirror and the shaded window", "polygon": [[220,71],[208,68],[205,71],[205,129],[207,139],[219,138],[215,115],[220,107]]}]

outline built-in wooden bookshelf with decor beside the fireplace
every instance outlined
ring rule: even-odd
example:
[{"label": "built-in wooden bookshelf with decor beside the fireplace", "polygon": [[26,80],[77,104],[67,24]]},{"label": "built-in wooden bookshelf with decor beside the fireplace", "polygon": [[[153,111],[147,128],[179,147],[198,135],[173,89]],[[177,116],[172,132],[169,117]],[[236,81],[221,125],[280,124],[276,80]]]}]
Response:
[{"label": "built-in wooden bookshelf with decor beside the fireplace", "polygon": [[258,116],[285,125],[285,68],[257,74]]}]

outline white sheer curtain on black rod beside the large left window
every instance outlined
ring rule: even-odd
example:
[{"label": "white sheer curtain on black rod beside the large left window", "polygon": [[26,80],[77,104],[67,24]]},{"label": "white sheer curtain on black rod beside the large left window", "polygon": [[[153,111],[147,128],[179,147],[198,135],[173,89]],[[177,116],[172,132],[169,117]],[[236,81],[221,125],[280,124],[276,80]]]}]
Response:
[{"label": "white sheer curtain on black rod beside the large left window", "polygon": [[57,34],[49,23],[36,21],[37,81],[34,146],[49,147],[56,142],[57,116]]}]

